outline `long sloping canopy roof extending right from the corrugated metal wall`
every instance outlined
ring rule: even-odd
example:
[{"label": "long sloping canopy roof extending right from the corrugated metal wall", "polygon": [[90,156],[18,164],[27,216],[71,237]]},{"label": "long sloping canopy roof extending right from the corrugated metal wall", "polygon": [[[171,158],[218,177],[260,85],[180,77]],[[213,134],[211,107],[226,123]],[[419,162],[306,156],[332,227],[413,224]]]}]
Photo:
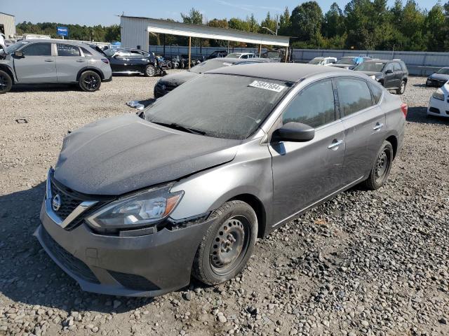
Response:
[{"label": "long sloping canopy roof extending right from the corrugated metal wall", "polygon": [[289,36],[249,33],[236,29],[209,27],[202,25],[189,25],[186,23],[150,18],[145,18],[145,20],[147,20],[147,30],[152,33],[172,34],[199,38],[213,38],[215,40],[236,41],[264,45],[280,45],[283,47],[288,47],[290,41]]}]

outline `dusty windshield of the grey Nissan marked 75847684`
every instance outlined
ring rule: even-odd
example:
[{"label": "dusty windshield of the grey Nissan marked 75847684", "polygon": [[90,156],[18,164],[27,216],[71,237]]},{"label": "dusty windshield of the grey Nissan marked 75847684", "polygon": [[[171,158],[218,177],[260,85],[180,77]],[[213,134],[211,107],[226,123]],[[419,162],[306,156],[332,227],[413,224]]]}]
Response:
[{"label": "dusty windshield of the grey Nissan marked 75847684", "polygon": [[208,73],[157,99],[145,110],[145,119],[208,137],[246,139],[290,86],[280,80]]}]

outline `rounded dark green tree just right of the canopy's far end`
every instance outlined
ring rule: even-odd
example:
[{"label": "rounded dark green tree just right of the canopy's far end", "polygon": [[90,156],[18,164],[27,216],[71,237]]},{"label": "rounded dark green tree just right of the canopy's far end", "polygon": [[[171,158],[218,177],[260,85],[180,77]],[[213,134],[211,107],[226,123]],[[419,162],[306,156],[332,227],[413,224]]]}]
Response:
[{"label": "rounded dark green tree just right of the canopy's far end", "polygon": [[323,12],[316,1],[307,1],[293,9],[290,20],[292,36],[308,41],[321,31]]}]

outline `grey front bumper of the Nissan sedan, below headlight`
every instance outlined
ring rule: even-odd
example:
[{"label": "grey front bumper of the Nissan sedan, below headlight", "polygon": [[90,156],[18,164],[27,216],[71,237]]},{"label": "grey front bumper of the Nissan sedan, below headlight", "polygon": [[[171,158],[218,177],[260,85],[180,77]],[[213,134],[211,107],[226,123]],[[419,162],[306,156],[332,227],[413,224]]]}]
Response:
[{"label": "grey front bumper of the Nissan sedan, below headlight", "polygon": [[81,289],[121,296],[156,296],[187,286],[196,249],[211,221],[152,235],[95,234],[84,223],[65,230],[41,209],[34,235]]}]

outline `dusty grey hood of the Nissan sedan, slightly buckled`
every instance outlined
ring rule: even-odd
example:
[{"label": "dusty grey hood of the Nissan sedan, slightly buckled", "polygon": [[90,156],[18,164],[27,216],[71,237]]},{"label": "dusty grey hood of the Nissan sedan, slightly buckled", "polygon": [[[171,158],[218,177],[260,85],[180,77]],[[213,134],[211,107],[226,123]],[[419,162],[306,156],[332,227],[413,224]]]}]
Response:
[{"label": "dusty grey hood of the Nissan sedan, slightly buckled", "polygon": [[54,176],[79,193],[121,195],[229,162],[239,144],[171,130],[128,114],[67,135]]}]

